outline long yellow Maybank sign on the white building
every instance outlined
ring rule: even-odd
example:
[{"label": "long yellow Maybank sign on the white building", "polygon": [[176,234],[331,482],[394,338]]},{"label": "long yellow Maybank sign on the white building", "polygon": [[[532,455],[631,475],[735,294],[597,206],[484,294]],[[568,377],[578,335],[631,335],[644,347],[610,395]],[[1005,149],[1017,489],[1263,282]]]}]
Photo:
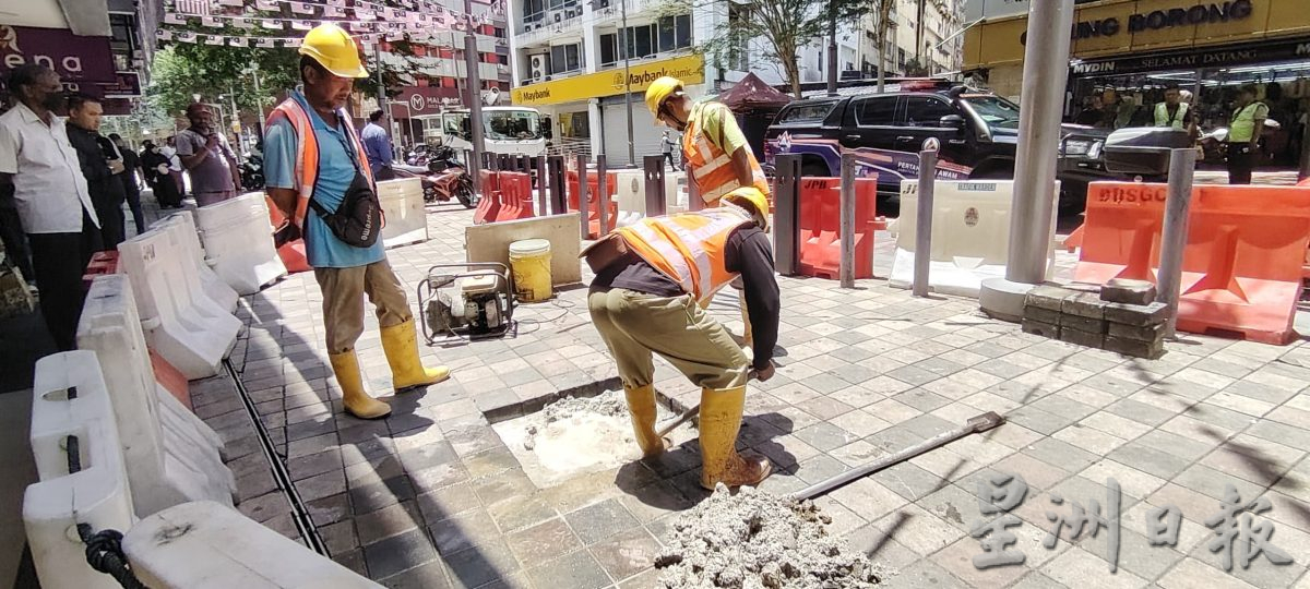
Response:
[{"label": "long yellow Maybank sign on the white building", "polygon": [[617,68],[519,86],[512,92],[514,103],[521,106],[558,105],[588,98],[618,96],[627,89],[641,93],[646,92],[646,86],[650,86],[651,82],[664,76],[673,76],[683,80],[686,85],[703,84],[705,58],[685,55],[681,58],[662,59],[659,62],[633,64],[629,71],[626,82],[624,80],[624,69]]}]

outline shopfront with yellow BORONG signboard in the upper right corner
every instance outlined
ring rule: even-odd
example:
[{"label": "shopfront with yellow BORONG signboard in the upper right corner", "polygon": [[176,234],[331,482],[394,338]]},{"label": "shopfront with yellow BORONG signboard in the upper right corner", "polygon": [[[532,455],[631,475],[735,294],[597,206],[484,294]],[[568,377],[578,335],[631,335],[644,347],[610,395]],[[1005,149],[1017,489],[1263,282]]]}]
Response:
[{"label": "shopfront with yellow BORONG signboard in the upper right corner", "polygon": [[[981,1],[981,0],[979,0]],[[964,67],[1017,98],[1028,26],[1022,3],[988,0],[965,34]],[[1305,0],[1078,1],[1070,30],[1068,119],[1119,128],[1151,124],[1166,88],[1193,96],[1201,131],[1227,127],[1242,85],[1269,106],[1259,164],[1292,168],[1310,118],[1310,10]],[[1009,8],[1013,13],[1006,14]],[[971,7],[971,10],[977,10]],[[1095,116],[1103,114],[1099,119]]]}]

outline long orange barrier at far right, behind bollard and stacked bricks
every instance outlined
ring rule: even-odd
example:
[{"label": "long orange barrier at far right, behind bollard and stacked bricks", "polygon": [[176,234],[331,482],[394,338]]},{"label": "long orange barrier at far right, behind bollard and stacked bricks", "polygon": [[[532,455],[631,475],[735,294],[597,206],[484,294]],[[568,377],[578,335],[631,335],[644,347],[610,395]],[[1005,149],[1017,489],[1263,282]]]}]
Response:
[{"label": "long orange barrier at far right, behind bollard and stacked bricks", "polygon": [[[1155,280],[1165,185],[1095,182],[1074,280]],[[1310,245],[1310,191],[1196,186],[1183,250],[1178,329],[1285,344]]]}]

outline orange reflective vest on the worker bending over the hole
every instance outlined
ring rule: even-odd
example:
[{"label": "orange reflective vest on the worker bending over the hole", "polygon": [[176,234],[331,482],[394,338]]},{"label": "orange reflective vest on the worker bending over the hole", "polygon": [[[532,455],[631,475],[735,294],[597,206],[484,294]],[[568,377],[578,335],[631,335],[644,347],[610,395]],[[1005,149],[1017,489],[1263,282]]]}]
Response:
[{"label": "orange reflective vest on the worker bending over the hole", "polygon": [[739,272],[728,272],[723,249],[728,236],[755,223],[738,207],[647,217],[614,230],[646,263],[705,302]]}]

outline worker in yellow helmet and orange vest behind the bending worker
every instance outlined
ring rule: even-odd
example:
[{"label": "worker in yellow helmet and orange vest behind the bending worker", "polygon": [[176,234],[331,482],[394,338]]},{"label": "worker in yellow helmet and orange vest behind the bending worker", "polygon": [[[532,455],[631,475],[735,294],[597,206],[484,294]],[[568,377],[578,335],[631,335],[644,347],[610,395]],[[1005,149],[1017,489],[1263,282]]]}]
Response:
[{"label": "worker in yellow helmet and orange vest behind the bending worker", "polygon": [[[646,107],[656,122],[683,134],[683,166],[707,207],[714,207],[724,194],[743,186],[753,186],[768,198],[769,179],[727,105],[693,102],[681,80],[664,76],[646,88]],[[740,289],[740,284],[732,287]],[[744,297],[740,306],[745,326],[741,338],[751,351],[755,336]]]}]

